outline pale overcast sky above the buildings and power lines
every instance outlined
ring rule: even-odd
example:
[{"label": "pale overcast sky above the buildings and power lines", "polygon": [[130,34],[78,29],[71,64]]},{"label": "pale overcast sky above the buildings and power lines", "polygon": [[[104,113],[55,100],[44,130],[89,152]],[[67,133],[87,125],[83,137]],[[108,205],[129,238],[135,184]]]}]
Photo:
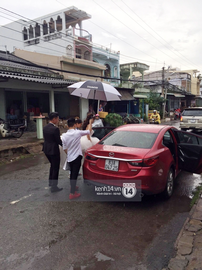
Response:
[{"label": "pale overcast sky above the buildings and power lines", "polygon": [[[83,22],[83,29],[92,34],[94,43],[112,44],[112,50],[120,51],[121,64],[142,62],[150,70],[160,70],[165,61],[165,67],[202,72],[201,0],[7,0],[0,4],[29,19],[71,6],[92,16]],[[0,25],[11,22],[1,16],[7,15],[0,12]]]}]

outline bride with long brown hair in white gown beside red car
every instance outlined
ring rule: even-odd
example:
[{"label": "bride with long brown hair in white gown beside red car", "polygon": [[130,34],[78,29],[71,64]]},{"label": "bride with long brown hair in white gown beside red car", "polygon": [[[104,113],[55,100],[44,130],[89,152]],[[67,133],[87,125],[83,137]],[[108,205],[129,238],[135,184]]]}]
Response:
[{"label": "bride with long brown hair in white gown beside red car", "polygon": [[[82,130],[87,130],[89,127],[89,121],[91,119],[91,116],[93,115],[93,119],[95,120],[95,116],[92,113],[89,113],[87,115],[87,118],[84,120],[83,122],[83,127]],[[88,148],[94,146],[96,143],[99,142],[99,139],[96,137],[92,137],[94,131],[92,130],[90,135],[85,135],[83,137],[81,137],[81,150],[82,150],[82,154],[84,154],[85,150],[87,150]]]}]

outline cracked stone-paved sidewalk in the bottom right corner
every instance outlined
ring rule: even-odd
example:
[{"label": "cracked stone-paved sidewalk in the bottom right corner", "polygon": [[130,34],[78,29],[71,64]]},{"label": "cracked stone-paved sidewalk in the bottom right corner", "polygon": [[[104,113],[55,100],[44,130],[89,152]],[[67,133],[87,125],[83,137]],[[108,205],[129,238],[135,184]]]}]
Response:
[{"label": "cracked stone-paved sidewalk in the bottom right corner", "polygon": [[202,269],[202,195],[190,211],[175,242],[177,255],[162,270]]}]

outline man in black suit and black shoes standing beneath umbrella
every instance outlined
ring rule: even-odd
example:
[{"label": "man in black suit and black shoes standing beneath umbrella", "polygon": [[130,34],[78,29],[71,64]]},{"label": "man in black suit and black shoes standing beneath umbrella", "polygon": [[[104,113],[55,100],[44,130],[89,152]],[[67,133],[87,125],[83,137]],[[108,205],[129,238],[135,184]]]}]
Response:
[{"label": "man in black suit and black shoes standing beneath umbrella", "polygon": [[62,190],[58,188],[58,175],[60,169],[60,150],[59,145],[62,146],[62,140],[60,138],[60,130],[55,125],[59,121],[59,114],[52,112],[49,114],[50,123],[44,127],[44,146],[42,151],[50,162],[49,172],[49,186],[51,186],[51,192]]}]

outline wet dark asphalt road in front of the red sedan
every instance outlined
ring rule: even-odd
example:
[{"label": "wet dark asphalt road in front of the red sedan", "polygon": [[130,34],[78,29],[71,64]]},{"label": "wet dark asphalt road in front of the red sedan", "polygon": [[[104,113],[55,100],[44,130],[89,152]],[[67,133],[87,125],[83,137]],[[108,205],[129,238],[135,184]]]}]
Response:
[{"label": "wet dark asphalt road in front of the red sedan", "polygon": [[157,195],[124,204],[94,202],[93,187],[80,176],[82,196],[73,202],[68,172],[60,171],[63,190],[52,194],[48,170],[43,154],[0,166],[2,270],[161,270],[202,181],[181,172],[170,200]]}]

